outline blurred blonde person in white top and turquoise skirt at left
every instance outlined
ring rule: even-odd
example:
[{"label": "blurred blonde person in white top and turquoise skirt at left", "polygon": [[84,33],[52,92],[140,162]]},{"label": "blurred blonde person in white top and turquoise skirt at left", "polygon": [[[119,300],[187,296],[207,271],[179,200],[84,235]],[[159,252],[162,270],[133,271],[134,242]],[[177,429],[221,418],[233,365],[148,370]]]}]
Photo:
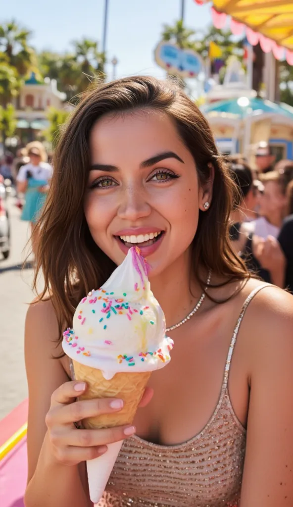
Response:
[{"label": "blurred blonde person in white top and turquoise skirt at left", "polygon": [[39,236],[35,230],[36,222],[45,204],[52,167],[45,162],[45,150],[36,143],[27,145],[29,163],[20,167],[17,175],[17,192],[25,194],[21,220],[28,221],[31,228],[32,251],[36,259]]}]

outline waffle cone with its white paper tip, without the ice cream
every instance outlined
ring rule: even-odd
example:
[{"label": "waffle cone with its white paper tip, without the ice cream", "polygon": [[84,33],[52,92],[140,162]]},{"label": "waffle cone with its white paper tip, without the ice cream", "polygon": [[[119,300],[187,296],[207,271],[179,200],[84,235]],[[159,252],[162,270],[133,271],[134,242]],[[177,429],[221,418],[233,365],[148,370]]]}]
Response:
[{"label": "waffle cone with its white paper tip, without the ice cream", "polygon": [[[88,387],[80,400],[113,397],[124,401],[120,412],[89,417],[83,420],[85,428],[109,428],[131,424],[151,372],[117,373],[111,380],[105,380],[101,370],[73,361],[75,378],[87,382]],[[90,498],[96,503],[101,498],[108,478],[121,449],[123,441],[108,445],[102,456],[87,461]]]}]

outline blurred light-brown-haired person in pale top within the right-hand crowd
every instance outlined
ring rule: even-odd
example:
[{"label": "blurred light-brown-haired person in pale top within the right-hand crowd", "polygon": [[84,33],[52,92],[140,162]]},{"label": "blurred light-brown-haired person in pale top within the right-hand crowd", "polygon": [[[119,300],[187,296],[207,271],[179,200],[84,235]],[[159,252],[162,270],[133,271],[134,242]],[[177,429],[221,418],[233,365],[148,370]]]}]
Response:
[{"label": "blurred light-brown-haired person in pale top within the right-hand crowd", "polygon": [[277,238],[286,214],[285,187],[281,175],[271,171],[260,175],[264,186],[259,201],[259,218],[251,222],[255,236]]}]

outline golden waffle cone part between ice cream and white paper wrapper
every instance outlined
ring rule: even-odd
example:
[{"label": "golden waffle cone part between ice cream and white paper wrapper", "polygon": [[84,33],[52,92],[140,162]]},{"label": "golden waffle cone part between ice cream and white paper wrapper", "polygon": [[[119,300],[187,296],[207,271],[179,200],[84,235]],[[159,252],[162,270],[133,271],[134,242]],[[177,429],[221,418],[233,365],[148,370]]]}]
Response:
[{"label": "golden waffle cone part between ice cream and white paper wrapper", "polygon": [[124,407],[119,412],[88,417],[83,419],[83,426],[98,429],[131,424],[152,372],[116,373],[111,380],[106,380],[101,370],[82,365],[75,360],[73,364],[76,380],[88,384],[86,392],[79,396],[80,400],[111,397],[124,401]]}]

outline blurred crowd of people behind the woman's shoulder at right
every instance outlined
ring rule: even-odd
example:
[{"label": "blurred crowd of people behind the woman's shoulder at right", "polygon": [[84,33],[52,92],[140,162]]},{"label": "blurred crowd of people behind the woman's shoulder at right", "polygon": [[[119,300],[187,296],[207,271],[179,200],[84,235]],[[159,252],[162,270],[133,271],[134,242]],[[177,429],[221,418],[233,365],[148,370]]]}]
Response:
[{"label": "blurred crowd of people behind the woman's shoulder at right", "polygon": [[239,191],[230,228],[235,252],[264,281],[292,292],[293,161],[275,163],[272,147],[261,143],[256,169],[241,155],[227,162]]}]

